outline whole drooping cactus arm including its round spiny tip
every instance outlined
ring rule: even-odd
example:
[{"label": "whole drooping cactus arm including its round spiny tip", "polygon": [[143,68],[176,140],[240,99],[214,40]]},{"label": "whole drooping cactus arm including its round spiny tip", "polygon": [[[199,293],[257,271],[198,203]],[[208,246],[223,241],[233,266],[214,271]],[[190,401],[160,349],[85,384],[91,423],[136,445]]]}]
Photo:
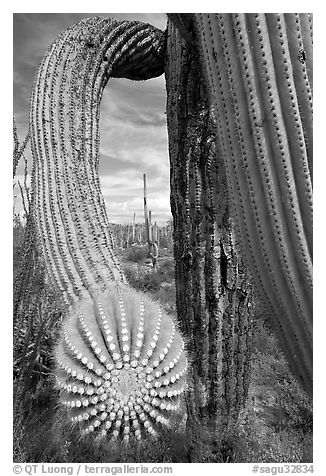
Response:
[{"label": "whole drooping cactus arm including its round spiny tip", "polygon": [[[84,433],[128,440],[169,424],[187,361],[172,320],[128,290],[101,195],[100,100],[110,77],[164,70],[163,32],[91,18],[50,46],[33,87],[33,223],[48,276],[67,308],[56,356],[62,401]],[[154,425],[154,426],[153,426]],[[112,429],[112,431],[108,431]]]}]

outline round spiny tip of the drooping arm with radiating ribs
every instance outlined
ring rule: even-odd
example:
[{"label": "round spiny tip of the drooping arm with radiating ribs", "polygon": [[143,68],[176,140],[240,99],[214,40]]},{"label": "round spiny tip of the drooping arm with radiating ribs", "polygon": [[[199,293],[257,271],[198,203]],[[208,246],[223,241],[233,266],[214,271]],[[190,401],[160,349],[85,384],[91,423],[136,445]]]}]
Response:
[{"label": "round spiny tip of the drooping arm with radiating ribs", "polygon": [[71,309],[56,354],[62,403],[83,435],[155,436],[181,409],[184,342],[158,304],[124,285]]}]

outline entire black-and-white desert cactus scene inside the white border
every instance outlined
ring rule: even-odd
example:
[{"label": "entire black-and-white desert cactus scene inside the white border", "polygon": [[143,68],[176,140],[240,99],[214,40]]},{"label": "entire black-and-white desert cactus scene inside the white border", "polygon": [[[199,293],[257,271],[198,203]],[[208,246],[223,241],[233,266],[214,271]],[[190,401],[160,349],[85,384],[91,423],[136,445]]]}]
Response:
[{"label": "entire black-and-white desert cactus scene inside the white border", "polygon": [[12,14],[14,473],[313,474],[313,17]]}]

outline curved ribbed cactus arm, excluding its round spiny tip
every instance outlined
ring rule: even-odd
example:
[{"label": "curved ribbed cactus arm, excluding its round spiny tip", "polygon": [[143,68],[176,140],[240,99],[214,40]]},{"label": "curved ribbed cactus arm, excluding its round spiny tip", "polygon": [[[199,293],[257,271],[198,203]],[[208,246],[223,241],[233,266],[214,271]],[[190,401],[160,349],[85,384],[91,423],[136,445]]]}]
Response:
[{"label": "curved ribbed cactus arm, excluding its round spiny tip", "polygon": [[67,303],[124,281],[98,177],[100,100],[110,77],[162,74],[163,51],[164,34],[150,25],[91,18],[64,31],[39,67],[30,113],[33,210]]}]

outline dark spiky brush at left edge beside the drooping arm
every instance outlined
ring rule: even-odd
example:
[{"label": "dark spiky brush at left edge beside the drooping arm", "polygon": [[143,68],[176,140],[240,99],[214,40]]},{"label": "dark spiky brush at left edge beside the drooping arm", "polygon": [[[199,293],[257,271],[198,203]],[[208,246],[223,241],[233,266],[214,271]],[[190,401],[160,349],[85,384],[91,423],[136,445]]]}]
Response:
[{"label": "dark spiky brush at left edge beside the drooping arm", "polygon": [[[61,326],[61,309],[57,294],[47,284],[44,267],[28,225],[14,222],[14,458],[17,462],[33,461],[36,447],[30,441],[38,433],[40,413],[53,408],[45,389],[53,371],[52,352]],[[27,250],[27,251],[26,251]],[[54,391],[52,389],[52,391]],[[39,398],[46,395],[43,403]],[[46,431],[42,425],[40,432]],[[40,445],[43,439],[40,438]],[[31,456],[32,455],[32,456]]]}]

